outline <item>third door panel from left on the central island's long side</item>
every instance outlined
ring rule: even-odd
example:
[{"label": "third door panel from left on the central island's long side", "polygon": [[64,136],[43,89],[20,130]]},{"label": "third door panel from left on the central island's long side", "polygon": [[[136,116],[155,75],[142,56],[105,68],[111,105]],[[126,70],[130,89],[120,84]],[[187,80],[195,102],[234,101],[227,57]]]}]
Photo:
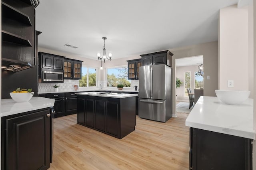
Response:
[{"label": "third door panel from left on the central island's long side", "polygon": [[95,100],[95,128],[105,132],[106,101]]}]

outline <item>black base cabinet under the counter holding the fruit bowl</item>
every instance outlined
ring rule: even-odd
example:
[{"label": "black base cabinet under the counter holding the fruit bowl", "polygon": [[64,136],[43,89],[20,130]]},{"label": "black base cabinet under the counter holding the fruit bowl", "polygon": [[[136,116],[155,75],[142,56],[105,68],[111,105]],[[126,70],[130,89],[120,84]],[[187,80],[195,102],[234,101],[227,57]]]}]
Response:
[{"label": "black base cabinet under the counter holding the fruit bowl", "polygon": [[2,169],[46,170],[52,157],[50,108],[2,117]]}]

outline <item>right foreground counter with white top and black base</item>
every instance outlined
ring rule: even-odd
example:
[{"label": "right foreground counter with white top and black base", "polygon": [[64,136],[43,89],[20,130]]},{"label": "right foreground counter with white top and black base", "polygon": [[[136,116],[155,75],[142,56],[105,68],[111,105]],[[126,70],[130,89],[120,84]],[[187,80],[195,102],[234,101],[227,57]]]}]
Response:
[{"label": "right foreground counter with white top and black base", "polygon": [[186,126],[190,169],[252,169],[253,99],[227,105],[217,97],[201,96]]}]

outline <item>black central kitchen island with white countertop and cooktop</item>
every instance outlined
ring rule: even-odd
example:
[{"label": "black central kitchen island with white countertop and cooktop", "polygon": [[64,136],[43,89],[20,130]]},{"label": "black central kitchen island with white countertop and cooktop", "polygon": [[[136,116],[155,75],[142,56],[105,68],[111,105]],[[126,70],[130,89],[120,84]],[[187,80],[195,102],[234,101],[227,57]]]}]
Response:
[{"label": "black central kitchen island with white countertop and cooktop", "polygon": [[84,92],[77,95],[77,123],[116,138],[135,130],[136,94]]}]

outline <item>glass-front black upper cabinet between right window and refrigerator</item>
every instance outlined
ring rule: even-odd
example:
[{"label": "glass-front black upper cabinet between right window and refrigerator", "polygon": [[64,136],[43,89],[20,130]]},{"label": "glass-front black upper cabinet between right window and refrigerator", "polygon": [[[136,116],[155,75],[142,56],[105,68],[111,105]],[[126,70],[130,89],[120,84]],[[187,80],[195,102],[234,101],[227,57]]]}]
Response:
[{"label": "glass-front black upper cabinet between right window and refrigerator", "polygon": [[139,67],[142,66],[141,59],[127,60],[128,62],[128,79],[139,79]]}]

